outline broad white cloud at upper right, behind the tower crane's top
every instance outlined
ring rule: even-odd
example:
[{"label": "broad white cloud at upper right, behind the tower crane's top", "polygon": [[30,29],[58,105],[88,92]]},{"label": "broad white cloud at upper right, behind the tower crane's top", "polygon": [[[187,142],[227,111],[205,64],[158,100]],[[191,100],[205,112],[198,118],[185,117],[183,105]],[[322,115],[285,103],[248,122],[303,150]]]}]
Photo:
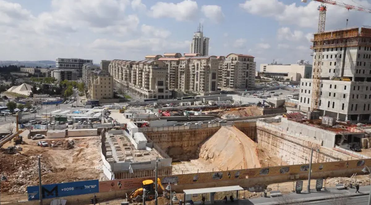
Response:
[{"label": "broad white cloud at upper right, behind the tower crane's top", "polygon": [[[343,0],[347,4],[354,4],[352,0]],[[357,1],[358,4],[370,8],[371,4],[366,0]],[[263,17],[271,17],[280,24],[298,25],[306,28],[317,28],[319,3],[310,1],[309,3],[284,4],[279,0],[246,0],[239,4],[239,7],[250,14]],[[367,25],[370,18],[364,12],[348,11],[345,8],[339,8],[329,5],[326,13],[326,27],[329,29],[345,27],[345,19],[352,19],[352,25]],[[342,18],[339,18],[341,16]],[[349,22],[350,23],[350,22]]]}]

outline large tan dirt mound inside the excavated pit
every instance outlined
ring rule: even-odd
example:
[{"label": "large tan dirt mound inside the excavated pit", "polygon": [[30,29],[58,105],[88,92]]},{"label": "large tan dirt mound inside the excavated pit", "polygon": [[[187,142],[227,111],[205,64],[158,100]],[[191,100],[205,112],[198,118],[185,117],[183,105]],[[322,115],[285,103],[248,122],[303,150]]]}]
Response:
[{"label": "large tan dirt mound inside the excavated pit", "polygon": [[218,170],[260,167],[256,144],[234,126],[221,127],[199,147],[199,159]]}]

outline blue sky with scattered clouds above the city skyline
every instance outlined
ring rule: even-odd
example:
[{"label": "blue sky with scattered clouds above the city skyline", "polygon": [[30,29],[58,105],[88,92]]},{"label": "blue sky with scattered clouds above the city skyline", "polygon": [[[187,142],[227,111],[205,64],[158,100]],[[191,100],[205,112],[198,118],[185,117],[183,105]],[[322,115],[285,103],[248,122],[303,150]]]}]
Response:
[{"label": "blue sky with scattered clouds above the city skyline", "polygon": [[[340,1],[340,0],[339,0]],[[371,8],[371,0],[341,2]],[[319,2],[308,0],[0,0],[0,60],[144,59],[188,53],[203,24],[209,55],[253,55],[257,68],[309,60]],[[329,5],[326,30],[371,25]]]}]

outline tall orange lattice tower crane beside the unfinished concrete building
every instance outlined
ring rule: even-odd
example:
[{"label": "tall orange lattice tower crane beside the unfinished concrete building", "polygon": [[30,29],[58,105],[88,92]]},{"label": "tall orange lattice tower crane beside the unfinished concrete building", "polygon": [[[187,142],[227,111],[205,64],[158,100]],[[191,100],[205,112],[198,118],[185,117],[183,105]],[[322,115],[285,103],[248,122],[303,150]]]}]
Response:
[{"label": "tall orange lattice tower crane beside the unfinished concrete building", "polygon": [[[303,3],[306,3],[307,0],[301,0]],[[344,7],[348,10],[357,10],[357,11],[364,11],[371,13],[371,9],[362,8],[358,6],[353,6],[350,4],[345,4],[342,2],[332,1],[332,0],[313,0],[321,2],[321,5],[318,6],[317,10],[319,10],[319,19],[318,19],[318,33],[317,33],[317,41],[316,46],[314,48],[316,52],[315,62],[314,62],[314,69],[312,71],[313,76],[313,89],[312,89],[312,103],[311,103],[311,111],[317,110],[319,107],[319,98],[320,96],[320,79],[321,79],[321,65],[322,65],[322,47],[324,45],[324,39],[322,38],[321,34],[325,32],[325,22],[326,22],[326,4],[335,5]],[[345,58],[345,57],[344,57]]]}]

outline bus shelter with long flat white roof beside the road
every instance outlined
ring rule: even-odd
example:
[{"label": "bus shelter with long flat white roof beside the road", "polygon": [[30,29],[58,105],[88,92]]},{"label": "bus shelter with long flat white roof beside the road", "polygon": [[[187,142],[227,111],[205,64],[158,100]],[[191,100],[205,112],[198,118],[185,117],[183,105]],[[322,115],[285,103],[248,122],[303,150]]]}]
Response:
[{"label": "bus shelter with long flat white roof beside the road", "polygon": [[209,194],[210,204],[214,204],[214,195],[216,192],[224,191],[236,191],[236,196],[238,196],[238,191],[243,190],[240,186],[228,186],[228,187],[210,187],[201,189],[184,189],[184,203],[189,204],[194,194]]}]

